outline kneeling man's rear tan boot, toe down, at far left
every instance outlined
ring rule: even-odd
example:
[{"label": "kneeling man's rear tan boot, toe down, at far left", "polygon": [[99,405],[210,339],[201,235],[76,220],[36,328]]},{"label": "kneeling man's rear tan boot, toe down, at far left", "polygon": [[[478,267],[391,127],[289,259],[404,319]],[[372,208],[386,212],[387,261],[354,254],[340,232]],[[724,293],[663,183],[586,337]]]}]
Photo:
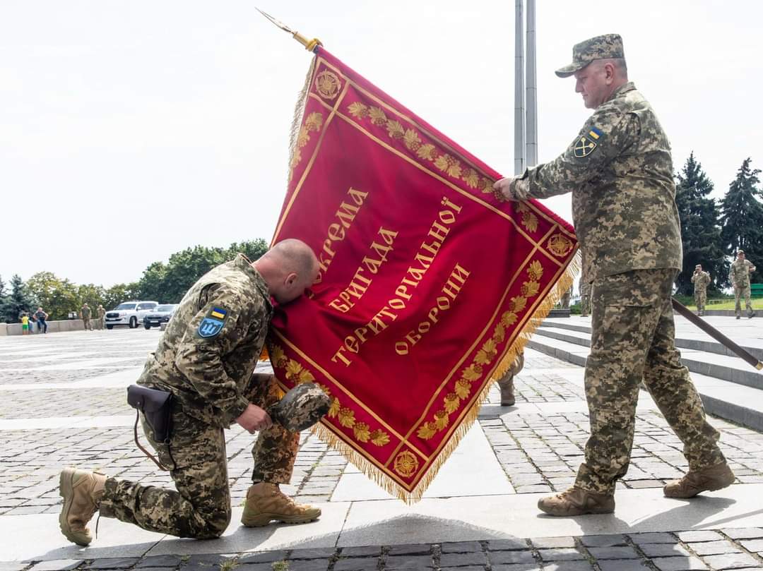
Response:
[{"label": "kneeling man's rear tan boot, toe down, at far left", "polygon": [[98,510],[103,497],[106,476],[98,472],[86,472],[64,468],[59,477],[59,494],[63,507],[58,516],[61,533],[66,539],[86,547],[92,541],[88,521]]}]

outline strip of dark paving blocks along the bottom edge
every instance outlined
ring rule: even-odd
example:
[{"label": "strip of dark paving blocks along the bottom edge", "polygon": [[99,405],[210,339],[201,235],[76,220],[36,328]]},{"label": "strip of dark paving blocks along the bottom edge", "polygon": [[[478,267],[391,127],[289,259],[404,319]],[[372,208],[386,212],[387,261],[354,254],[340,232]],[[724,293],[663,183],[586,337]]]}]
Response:
[{"label": "strip of dark paving blocks along the bottom edge", "polygon": [[760,569],[763,528],[0,563],[0,571],[689,571]]}]

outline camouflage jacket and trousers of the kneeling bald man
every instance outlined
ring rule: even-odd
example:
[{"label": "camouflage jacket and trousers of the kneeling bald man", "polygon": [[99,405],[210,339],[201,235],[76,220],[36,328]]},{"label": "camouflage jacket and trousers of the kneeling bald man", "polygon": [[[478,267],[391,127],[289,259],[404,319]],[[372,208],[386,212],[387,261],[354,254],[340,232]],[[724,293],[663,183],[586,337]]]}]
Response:
[{"label": "camouflage jacket and trousers of the kneeling bald man", "polygon": [[[169,444],[143,431],[172,467],[177,492],[109,478],[101,515],[178,537],[219,537],[230,522],[224,428],[251,403],[278,399],[274,377],[253,375],[272,317],[268,288],[244,255],[188,290],[138,383],[175,396]],[[263,377],[266,382],[263,382]],[[253,448],[253,481],[288,483],[298,433],[273,425]]]}]

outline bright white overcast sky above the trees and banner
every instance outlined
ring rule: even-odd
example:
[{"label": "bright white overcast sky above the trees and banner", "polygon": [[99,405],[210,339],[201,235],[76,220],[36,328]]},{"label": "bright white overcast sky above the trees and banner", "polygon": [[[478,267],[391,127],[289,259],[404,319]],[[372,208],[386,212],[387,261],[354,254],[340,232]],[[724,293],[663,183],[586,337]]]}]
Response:
[{"label": "bright white overcast sky above the trees and banner", "polygon": [[[5,2],[0,12],[0,275],[137,280],[190,245],[272,236],[310,55],[255,5],[507,175],[510,0]],[[716,196],[763,167],[763,2],[539,0],[539,160],[590,113],[553,70],[622,34],[631,79]],[[569,196],[549,205],[570,219]]]}]

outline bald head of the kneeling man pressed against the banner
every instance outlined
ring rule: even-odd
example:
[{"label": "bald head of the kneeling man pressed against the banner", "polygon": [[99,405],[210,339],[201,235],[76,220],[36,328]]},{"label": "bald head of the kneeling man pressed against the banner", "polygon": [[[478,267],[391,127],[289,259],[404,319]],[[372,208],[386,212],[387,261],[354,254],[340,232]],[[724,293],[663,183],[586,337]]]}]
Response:
[{"label": "bald head of the kneeling man pressed against the banner", "polygon": [[278,303],[300,297],[318,275],[315,253],[309,245],[295,238],[276,243],[253,266]]}]

